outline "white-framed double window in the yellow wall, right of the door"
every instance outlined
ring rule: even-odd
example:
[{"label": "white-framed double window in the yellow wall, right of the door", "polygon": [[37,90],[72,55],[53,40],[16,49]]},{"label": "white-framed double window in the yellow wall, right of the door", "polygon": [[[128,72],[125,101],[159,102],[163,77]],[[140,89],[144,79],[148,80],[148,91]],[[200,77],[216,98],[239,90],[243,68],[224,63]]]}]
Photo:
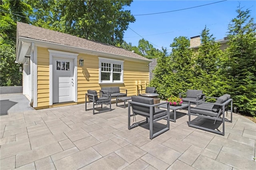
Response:
[{"label": "white-framed double window in the yellow wall, right of the door", "polygon": [[99,57],[99,83],[123,83],[124,61]]}]

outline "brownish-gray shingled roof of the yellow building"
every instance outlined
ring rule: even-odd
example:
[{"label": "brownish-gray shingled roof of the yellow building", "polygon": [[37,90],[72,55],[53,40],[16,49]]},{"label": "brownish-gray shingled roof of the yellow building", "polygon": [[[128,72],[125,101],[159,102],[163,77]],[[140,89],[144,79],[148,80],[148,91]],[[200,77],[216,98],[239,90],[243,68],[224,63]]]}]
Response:
[{"label": "brownish-gray shingled roof of the yellow building", "polygon": [[94,42],[91,40],[86,40],[84,38],[79,38],[76,36],[72,36],[70,34],[48,30],[45,28],[32,26],[22,22],[17,22],[17,30],[18,30],[17,36],[19,37],[31,38],[34,40],[41,40],[45,42],[58,43],[62,45],[70,45],[73,47],[80,47],[83,49],[89,49],[89,50],[94,50],[94,51],[99,51],[104,53],[111,53],[114,55],[122,55],[126,57],[150,61],[149,59],[142,57],[141,55],[138,55],[136,53],[133,53],[132,51],[128,51],[120,47],[116,47],[113,45],[108,45],[100,42]]}]

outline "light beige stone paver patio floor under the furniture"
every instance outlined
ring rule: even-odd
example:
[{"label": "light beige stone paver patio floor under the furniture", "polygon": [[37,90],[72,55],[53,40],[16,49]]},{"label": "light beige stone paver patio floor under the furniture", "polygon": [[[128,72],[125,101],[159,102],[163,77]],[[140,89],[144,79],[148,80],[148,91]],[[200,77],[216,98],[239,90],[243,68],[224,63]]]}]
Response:
[{"label": "light beige stone paver patio floor under the furniture", "polygon": [[256,169],[256,124],[240,115],[225,123],[222,136],[188,127],[188,115],[180,113],[170,130],[150,140],[148,125],[128,130],[128,108],[113,103],[112,111],[96,115],[84,108],[1,116],[0,169]]}]

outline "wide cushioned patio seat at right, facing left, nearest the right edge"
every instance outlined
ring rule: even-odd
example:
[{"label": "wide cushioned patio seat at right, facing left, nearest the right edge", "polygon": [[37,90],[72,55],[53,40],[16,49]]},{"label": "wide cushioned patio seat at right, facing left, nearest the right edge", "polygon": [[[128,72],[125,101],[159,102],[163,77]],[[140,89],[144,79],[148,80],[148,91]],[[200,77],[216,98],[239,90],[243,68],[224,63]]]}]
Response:
[{"label": "wide cushioned patio seat at right, facing left, nearest the right edge", "polygon": [[[205,102],[205,98],[216,98],[215,103],[210,103],[210,102]],[[190,107],[191,101],[189,101],[188,105],[188,126],[189,127],[194,127],[194,128],[199,128],[202,130],[206,130],[209,132],[214,132],[217,134],[222,134],[223,136],[225,135],[225,121],[226,122],[232,122],[232,105],[233,105],[233,100],[230,99],[230,95],[225,94],[222,95],[221,97],[204,97],[204,101],[198,101],[200,105],[192,108]],[[230,104],[230,120],[225,119],[225,111],[228,111],[228,106]],[[209,127],[202,127],[202,125],[193,125],[191,124],[191,115],[197,116],[200,118],[206,118],[206,119],[213,119],[214,124],[216,121],[222,121],[222,132],[220,130],[215,130],[213,128]],[[202,123],[202,120],[200,120]]]}]

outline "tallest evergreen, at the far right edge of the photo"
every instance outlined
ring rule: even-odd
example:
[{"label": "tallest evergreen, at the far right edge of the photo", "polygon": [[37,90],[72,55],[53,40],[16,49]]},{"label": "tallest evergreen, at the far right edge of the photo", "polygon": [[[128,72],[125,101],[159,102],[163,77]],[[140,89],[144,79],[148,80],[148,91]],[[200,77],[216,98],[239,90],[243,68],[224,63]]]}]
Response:
[{"label": "tallest evergreen, at the far right edge of the photo", "polygon": [[256,116],[256,24],[250,10],[236,10],[237,16],[228,26],[230,45],[226,49],[226,76],[230,93],[240,113]]}]

